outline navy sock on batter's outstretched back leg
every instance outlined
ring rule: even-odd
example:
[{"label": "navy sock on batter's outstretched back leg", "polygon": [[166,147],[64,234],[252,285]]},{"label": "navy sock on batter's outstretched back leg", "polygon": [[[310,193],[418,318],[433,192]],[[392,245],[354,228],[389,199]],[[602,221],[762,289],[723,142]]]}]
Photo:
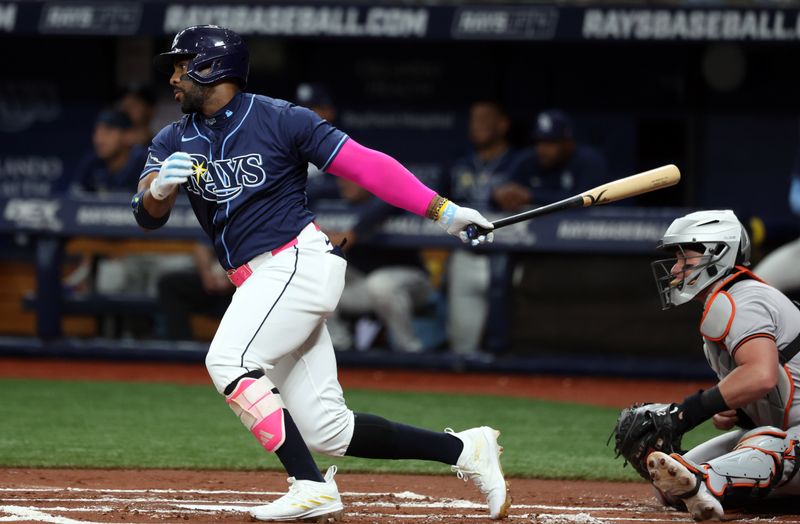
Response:
[{"label": "navy sock on batter's outstretched back leg", "polygon": [[464,444],[447,433],[406,426],[369,413],[355,414],[345,455],[363,458],[436,460],[454,465]]}]

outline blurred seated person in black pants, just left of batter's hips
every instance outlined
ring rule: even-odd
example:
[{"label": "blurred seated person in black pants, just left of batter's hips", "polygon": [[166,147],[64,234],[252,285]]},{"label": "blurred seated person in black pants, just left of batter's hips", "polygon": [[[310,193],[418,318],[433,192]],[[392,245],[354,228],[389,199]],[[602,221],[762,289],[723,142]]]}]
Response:
[{"label": "blurred seated person in black pants, just left of batter's hips", "polygon": [[163,320],[158,334],[169,340],[191,340],[192,315],[222,318],[235,290],[213,248],[198,242],[193,267],[164,273],[158,279],[158,305]]}]

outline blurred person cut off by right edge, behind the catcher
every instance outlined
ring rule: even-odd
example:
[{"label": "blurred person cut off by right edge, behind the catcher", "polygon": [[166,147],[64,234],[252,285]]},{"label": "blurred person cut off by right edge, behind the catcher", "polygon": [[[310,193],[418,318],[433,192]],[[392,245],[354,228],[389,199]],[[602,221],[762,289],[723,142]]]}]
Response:
[{"label": "blurred person cut off by right edge, behind the catcher", "polygon": [[[800,216],[800,156],[791,176],[789,206]],[[767,255],[753,272],[784,293],[800,290],[800,238]]]}]

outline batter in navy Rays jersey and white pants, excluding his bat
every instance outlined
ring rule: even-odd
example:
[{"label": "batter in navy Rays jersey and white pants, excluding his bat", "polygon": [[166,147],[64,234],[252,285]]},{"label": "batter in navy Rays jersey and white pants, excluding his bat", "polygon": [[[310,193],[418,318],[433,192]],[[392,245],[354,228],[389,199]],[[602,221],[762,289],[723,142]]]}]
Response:
[{"label": "batter in navy Rays jersey and white pants, excluding his bat", "polygon": [[[206,366],[234,413],[291,477],[288,492],[253,508],[252,517],[341,518],[336,467],[323,476],[309,450],[443,462],[474,481],[492,518],[505,517],[511,499],[499,432],[485,426],[428,431],[345,405],[325,319],[339,300],[347,263],[306,206],[308,163],[434,220],[463,241],[468,225],[491,229],[489,221],[312,111],[243,92],[249,53],[233,31],[184,29],[155,65],[171,75],[185,115],[153,139],[133,212],[144,228],[164,225],[182,186],[237,286]],[[472,242],[491,240],[488,233]]]}]

